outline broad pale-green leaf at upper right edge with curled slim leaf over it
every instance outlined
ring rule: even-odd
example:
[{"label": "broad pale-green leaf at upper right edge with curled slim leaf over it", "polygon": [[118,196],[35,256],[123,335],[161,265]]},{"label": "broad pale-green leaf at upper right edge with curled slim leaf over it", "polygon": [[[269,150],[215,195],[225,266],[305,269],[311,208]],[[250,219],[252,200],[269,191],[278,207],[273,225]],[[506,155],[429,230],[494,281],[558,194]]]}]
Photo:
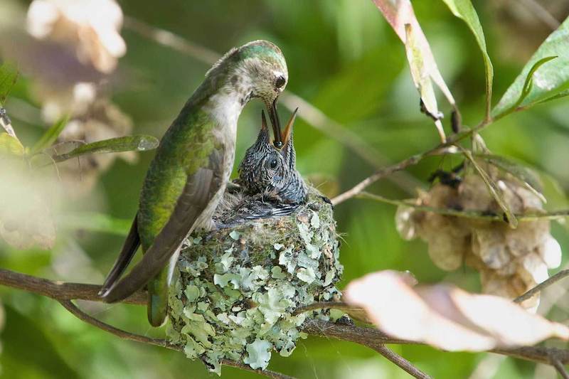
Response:
[{"label": "broad pale-green leaf at upper right edge with curled slim leaf over it", "polygon": [[[558,58],[543,65],[555,56]],[[543,67],[540,67],[541,65]],[[568,88],[569,18],[566,18],[526,63],[520,75],[492,110],[492,116],[503,117],[516,107],[531,107],[543,100],[555,98]]]}]

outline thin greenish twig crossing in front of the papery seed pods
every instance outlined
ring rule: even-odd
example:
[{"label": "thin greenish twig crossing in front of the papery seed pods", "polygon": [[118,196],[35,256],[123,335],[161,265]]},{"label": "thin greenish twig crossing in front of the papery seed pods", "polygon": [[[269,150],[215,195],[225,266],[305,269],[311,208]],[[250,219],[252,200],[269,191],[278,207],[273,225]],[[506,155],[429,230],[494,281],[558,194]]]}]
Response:
[{"label": "thin greenish twig crossing in front of the papery seed pods", "polygon": [[[503,215],[497,215],[495,213],[488,213],[482,210],[458,210],[452,208],[437,208],[430,207],[428,205],[419,205],[412,203],[409,200],[395,200],[391,198],[385,198],[374,193],[361,192],[355,196],[356,198],[366,198],[370,200],[380,201],[381,203],[387,203],[397,206],[404,206],[414,208],[416,210],[422,210],[424,212],[432,212],[440,215],[449,215],[454,217],[462,218],[475,218],[477,220],[489,220],[489,221],[504,221]],[[569,216],[569,209],[553,210],[551,212],[540,212],[540,213],[514,213],[514,216],[519,221],[535,221],[541,219],[555,219],[563,218]]]}]

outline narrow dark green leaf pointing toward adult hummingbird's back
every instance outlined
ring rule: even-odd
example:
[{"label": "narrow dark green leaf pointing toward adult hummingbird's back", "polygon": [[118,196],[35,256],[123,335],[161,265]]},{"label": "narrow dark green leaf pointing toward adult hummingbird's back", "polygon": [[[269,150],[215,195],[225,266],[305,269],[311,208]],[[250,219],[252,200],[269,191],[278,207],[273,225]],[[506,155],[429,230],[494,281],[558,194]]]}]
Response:
[{"label": "narrow dark green leaf pointing toward adult hummingbird's back", "polygon": [[101,154],[101,153],[120,153],[123,151],[147,151],[156,149],[159,141],[155,137],[147,135],[136,135],[127,137],[117,137],[111,139],[103,139],[102,141],[84,144],[72,151],[53,156],[53,160],[57,162],[66,161],[76,156],[85,154]]}]

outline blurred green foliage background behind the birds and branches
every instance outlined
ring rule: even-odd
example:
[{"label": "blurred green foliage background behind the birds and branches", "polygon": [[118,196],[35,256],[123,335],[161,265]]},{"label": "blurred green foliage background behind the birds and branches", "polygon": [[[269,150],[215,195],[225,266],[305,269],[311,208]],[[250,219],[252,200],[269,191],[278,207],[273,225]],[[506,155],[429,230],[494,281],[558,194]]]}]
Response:
[{"label": "blurred green foliage background behind the birds and branches", "polygon": [[[569,14],[564,0],[537,2],[548,9],[550,16],[536,11],[533,1],[473,1],[494,63],[494,102],[555,28],[555,20],[563,21]],[[45,109],[42,113],[46,92],[57,92],[55,85],[38,86],[38,80],[53,67],[65,67],[56,55],[18,39],[26,33],[24,20],[29,3],[0,2],[0,28],[4,28],[1,58],[35,62],[21,65],[23,75],[6,102],[14,128],[27,145],[33,144],[49,125]],[[118,3],[127,17],[121,32],[127,53],[119,58],[104,87],[105,98],[132,120],[132,124],[126,122],[124,130],[160,137],[209,67],[203,62],[208,60],[206,53],[199,59],[142,36],[134,30],[142,22],[217,53],[254,39],[276,43],[287,57],[287,90],[334,120],[334,130],[340,127],[341,135],[351,132],[366,142],[377,160],[376,166],[425,151],[438,142],[432,122],[419,112],[418,94],[410,80],[403,45],[370,0]],[[413,1],[413,6],[440,71],[462,110],[464,124],[477,124],[484,112],[484,67],[472,34],[442,1]],[[197,50],[197,54],[201,51]],[[482,133],[495,154],[519,159],[545,173],[542,178],[549,209],[567,205],[568,105],[569,100],[558,100],[513,114]],[[442,107],[448,114],[448,107]],[[252,102],[240,117],[238,159],[255,138],[261,108],[260,102]],[[300,114],[303,111],[301,108]],[[289,115],[282,105],[280,113],[282,119]],[[445,128],[450,132],[448,119]],[[330,135],[329,130],[326,122],[322,131],[297,119],[294,142],[299,171],[333,196],[371,174],[376,166],[346,148],[346,137],[336,138],[338,133]],[[122,245],[125,225],[137,209],[139,188],[152,156],[150,151],[105,162],[104,170],[95,170],[92,185],[74,189],[75,195],[66,198],[65,214],[78,215],[81,222],[73,221],[71,216],[62,217],[55,247],[50,251],[21,251],[0,243],[0,267],[50,279],[101,283]],[[427,178],[432,171],[458,163],[458,157],[427,159],[397,180],[380,181],[370,190],[390,198],[408,198],[415,193],[415,186],[429,187]],[[84,169],[73,171],[70,181],[88,181],[91,167]],[[69,186],[74,188],[73,183]],[[85,217],[87,212],[110,218],[97,223],[95,217]],[[424,243],[401,239],[395,230],[394,214],[392,205],[361,199],[351,199],[336,208],[338,229],[345,240],[341,247],[345,271],[340,287],[368,272],[398,269],[410,270],[423,283],[447,281],[474,292],[479,290],[478,274],[472,269],[443,272],[430,262]],[[564,266],[569,254],[568,230],[554,223],[552,233],[562,245]],[[567,297],[559,295],[563,292],[563,286],[548,290],[540,310],[561,322],[567,321],[569,312]],[[211,375],[200,362],[188,361],[181,353],[121,341],[84,324],[53,300],[6,288],[0,289],[0,299],[4,308],[0,334],[2,378]],[[148,326],[142,307],[82,302],[80,306],[129,331],[148,336],[164,332]],[[420,346],[393,349],[434,378],[555,378],[552,368],[511,358],[442,353]],[[299,378],[407,377],[366,348],[312,337],[299,341],[289,358],[273,353],[269,368]],[[223,368],[224,378],[257,376]]]}]

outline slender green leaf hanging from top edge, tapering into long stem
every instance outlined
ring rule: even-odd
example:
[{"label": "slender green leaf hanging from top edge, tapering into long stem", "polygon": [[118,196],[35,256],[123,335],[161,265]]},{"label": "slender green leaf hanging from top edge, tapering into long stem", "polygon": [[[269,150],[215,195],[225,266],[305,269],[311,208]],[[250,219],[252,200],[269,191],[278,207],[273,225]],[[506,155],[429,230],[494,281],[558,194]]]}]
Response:
[{"label": "slender green leaf hanging from top edge, tapering into long stem", "polygon": [[486,117],[489,117],[491,102],[492,102],[492,80],[494,79],[494,68],[490,60],[490,55],[486,50],[486,39],[484,38],[484,31],[480,20],[472,6],[470,0],[443,0],[449,7],[454,16],[461,18],[474,34],[474,38],[482,51],[482,58],[484,58],[484,68],[486,70]]}]

